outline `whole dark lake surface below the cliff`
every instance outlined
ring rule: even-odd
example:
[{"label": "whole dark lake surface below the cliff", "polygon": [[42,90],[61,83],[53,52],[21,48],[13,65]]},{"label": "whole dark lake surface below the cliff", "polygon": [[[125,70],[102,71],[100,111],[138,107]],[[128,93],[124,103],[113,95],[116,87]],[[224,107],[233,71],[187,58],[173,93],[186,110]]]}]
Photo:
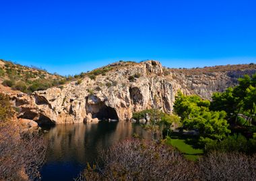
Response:
[{"label": "whole dark lake surface below the cliff", "polygon": [[55,125],[44,138],[49,140],[42,180],[73,180],[86,164],[95,162],[107,147],[137,133],[150,139],[140,125],[126,121]]}]

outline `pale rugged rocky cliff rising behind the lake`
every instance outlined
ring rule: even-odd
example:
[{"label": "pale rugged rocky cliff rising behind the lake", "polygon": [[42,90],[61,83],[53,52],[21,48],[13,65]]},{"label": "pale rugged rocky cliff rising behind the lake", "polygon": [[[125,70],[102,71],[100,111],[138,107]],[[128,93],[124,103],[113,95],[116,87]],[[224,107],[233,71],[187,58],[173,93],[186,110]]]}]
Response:
[{"label": "pale rugged rocky cliff rising behind the lake", "polygon": [[133,112],[151,108],[172,113],[179,90],[210,99],[212,93],[237,84],[239,76],[256,72],[255,64],[225,70],[187,70],[163,68],[154,60],[117,62],[106,68],[108,72],[32,95],[11,94],[13,105],[20,109],[19,118],[57,124],[83,122],[88,115],[129,120]]}]

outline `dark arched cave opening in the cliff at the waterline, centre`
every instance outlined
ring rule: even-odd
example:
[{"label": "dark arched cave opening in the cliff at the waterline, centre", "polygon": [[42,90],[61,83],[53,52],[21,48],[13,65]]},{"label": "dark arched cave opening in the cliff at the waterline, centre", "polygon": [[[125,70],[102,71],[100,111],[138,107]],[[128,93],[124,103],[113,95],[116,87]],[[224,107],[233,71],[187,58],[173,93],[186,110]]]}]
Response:
[{"label": "dark arched cave opening in the cliff at the waterline, centre", "polygon": [[92,118],[98,118],[100,120],[118,120],[117,111],[115,111],[113,107],[108,107],[106,105],[103,105],[98,113],[92,113]]}]

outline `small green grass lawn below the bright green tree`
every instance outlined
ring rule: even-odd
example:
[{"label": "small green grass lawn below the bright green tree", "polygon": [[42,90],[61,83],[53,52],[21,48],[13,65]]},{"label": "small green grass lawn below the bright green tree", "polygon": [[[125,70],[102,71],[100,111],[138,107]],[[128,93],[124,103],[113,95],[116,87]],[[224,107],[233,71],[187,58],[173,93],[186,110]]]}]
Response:
[{"label": "small green grass lawn below the bright green tree", "polygon": [[185,139],[182,138],[168,138],[166,139],[166,143],[177,147],[181,153],[189,160],[197,160],[200,155],[203,154],[203,149],[195,149],[193,145],[189,145],[185,143]]}]

